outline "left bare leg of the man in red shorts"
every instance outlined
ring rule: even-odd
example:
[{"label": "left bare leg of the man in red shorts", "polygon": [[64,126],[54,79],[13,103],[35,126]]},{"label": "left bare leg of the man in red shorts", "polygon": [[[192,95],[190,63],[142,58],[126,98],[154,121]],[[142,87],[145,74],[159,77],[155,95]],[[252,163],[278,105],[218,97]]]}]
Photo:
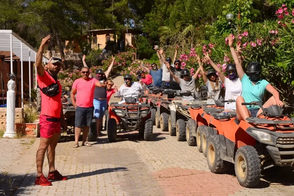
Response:
[{"label": "left bare leg of the man in red shorts", "polygon": [[[59,135],[58,135],[59,136]],[[37,172],[38,177],[43,174],[43,164],[46,150],[50,144],[51,138],[42,138],[40,140],[40,146],[36,154]]]}]

